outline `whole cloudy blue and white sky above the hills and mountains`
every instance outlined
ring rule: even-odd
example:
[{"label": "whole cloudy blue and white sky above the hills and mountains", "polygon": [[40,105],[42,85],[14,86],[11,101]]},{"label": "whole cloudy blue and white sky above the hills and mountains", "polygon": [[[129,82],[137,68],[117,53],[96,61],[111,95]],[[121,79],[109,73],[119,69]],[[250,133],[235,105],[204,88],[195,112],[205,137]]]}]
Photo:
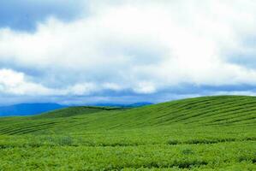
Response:
[{"label": "whole cloudy blue and white sky above the hills and mountains", "polygon": [[256,95],[254,0],[0,1],[0,105]]}]

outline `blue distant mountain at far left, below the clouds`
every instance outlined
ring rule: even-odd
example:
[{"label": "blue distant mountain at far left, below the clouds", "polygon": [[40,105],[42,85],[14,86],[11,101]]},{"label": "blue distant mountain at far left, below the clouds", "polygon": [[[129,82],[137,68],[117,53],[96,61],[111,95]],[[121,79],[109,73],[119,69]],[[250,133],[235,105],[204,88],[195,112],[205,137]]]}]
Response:
[{"label": "blue distant mountain at far left, below the clouds", "polygon": [[55,109],[63,109],[68,106],[57,103],[21,103],[0,107],[0,116],[37,115]]}]

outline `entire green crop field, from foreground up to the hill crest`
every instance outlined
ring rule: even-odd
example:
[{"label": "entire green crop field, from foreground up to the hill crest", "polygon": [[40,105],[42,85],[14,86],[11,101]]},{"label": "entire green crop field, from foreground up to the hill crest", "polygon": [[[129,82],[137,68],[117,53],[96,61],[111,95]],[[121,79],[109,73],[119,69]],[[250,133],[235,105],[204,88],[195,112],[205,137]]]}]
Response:
[{"label": "entire green crop field, from foreground up to the hill crest", "polygon": [[1,118],[0,170],[256,170],[256,97]]}]

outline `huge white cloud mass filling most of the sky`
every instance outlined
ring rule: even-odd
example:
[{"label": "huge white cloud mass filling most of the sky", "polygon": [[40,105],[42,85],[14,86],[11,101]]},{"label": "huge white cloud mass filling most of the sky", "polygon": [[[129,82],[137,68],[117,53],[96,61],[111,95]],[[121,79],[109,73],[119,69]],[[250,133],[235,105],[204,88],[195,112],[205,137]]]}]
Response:
[{"label": "huge white cloud mass filling most of the sky", "polygon": [[87,95],[125,89],[153,93],[182,83],[256,85],[256,67],[230,62],[235,54],[241,60],[243,54],[256,55],[252,44],[245,44],[256,38],[256,3],[251,0],[90,5],[89,16],[69,23],[51,18],[34,33],[0,29],[0,62],[39,70],[65,85],[56,88],[49,78],[33,80],[33,75],[27,82],[24,74],[13,73],[1,80],[2,89]]}]

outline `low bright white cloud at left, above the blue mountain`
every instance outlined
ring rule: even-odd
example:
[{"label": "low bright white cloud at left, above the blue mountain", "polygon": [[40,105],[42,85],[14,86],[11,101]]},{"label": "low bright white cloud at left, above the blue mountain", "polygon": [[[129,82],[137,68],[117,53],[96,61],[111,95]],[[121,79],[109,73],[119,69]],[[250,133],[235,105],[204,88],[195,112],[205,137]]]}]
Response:
[{"label": "low bright white cloud at left, above the blue mountain", "polygon": [[[109,85],[109,84],[105,84]],[[93,83],[81,83],[68,86],[64,89],[48,88],[44,85],[27,80],[27,75],[15,72],[11,69],[0,69],[0,93],[9,95],[28,96],[80,96],[90,95],[92,92],[102,89],[115,89],[115,86],[94,85]]]}]

